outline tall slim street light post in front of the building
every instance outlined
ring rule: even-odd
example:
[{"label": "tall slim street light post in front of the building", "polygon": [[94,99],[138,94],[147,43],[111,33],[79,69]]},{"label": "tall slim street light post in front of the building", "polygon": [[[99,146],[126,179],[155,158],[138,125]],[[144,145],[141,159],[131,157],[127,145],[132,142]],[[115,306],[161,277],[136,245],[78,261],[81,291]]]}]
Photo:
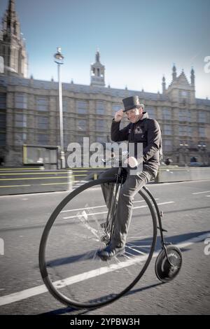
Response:
[{"label": "tall slim street light post in front of the building", "polygon": [[60,141],[60,154],[59,154],[59,167],[64,169],[66,167],[65,155],[64,155],[64,129],[63,129],[63,108],[62,108],[62,83],[60,66],[64,64],[64,56],[62,55],[61,48],[57,47],[57,52],[54,55],[55,63],[57,64],[57,76],[58,76],[58,94],[59,94],[59,141]]}]

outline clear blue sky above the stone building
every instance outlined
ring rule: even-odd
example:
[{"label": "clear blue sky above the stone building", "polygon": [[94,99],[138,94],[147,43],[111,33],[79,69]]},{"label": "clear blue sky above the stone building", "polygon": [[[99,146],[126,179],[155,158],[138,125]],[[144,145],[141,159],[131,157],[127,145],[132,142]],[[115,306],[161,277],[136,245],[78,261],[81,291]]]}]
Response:
[{"label": "clear blue sky above the stone building", "polygon": [[[1,0],[3,16],[8,0]],[[53,55],[62,47],[62,81],[90,84],[97,48],[106,66],[106,85],[162,91],[172,66],[190,80],[195,69],[196,96],[210,99],[209,0],[16,0],[29,54],[29,76],[57,80]]]}]

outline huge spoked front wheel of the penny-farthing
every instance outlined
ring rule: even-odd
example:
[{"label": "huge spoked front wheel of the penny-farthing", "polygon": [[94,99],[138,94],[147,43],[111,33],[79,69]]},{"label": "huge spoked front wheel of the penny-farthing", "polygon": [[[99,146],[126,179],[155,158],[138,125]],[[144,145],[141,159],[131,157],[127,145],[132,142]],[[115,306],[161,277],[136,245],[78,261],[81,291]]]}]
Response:
[{"label": "huge spoked front wheel of the penny-farthing", "polygon": [[141,190],[134,198],[125,254],[106,262],[97,256],[97,250],[105,246],[101,224],[108,213],[102,183],[115,181],[90,181],[67,195],[53,211],[41,238],[43,281],[68,306],[98,307],[118,299],[139,281],[155,248],[155,211]]}]

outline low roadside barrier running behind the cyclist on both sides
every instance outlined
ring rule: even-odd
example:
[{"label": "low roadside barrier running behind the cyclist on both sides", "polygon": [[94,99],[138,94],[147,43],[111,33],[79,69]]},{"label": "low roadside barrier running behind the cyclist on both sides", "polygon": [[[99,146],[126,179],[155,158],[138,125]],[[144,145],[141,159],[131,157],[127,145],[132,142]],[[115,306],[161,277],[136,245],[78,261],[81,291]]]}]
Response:
[{"label": "low roadside barrier running behind the cyclist on both sides", "polygon": [[[73,169],[0,169],[0,195],[24,193],[41,193],[54,191],[71,191],[76,181],[97,179],[100,172],[107,168],[73,168]],[[160,167],[156,183],[176,181],[197,181],[210,179],[210,167]]]}]

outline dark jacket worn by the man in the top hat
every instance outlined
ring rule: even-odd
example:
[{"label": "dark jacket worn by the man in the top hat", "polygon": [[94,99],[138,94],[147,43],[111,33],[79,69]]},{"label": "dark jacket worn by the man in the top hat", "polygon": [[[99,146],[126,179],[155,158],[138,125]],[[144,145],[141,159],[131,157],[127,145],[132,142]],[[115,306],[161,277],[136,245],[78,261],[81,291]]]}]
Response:
[{"label": "dark jacket worn by the man in the top hat", "polygon": [[[130,123],[121,130],[120,122],[116,123],[113,120],[111,139],[113,141],[128,141],[134,144],[143,143],[143,168],[148,169],[154,176],[157,176],[161,130],[156,120],[148,118],[147,112],[143,113],[143,117],[137,123]],[[137,158],[136,153],[135,158]],[[140,159],[137,158],[137,160]]]}]

